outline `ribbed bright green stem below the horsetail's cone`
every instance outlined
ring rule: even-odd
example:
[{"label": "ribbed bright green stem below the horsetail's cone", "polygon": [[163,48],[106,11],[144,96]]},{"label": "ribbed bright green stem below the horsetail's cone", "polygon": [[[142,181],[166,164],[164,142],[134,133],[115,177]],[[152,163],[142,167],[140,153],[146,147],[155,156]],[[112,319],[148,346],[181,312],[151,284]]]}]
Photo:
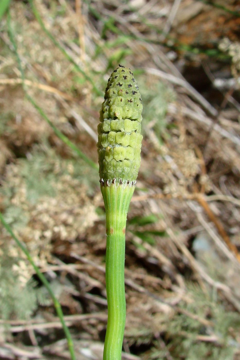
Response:
[{"label": "ribbed bright green stem below the horsetail's cone", "polygon": [[121,360],[126,318],[124,263],[126,216],[135,182],[101,185],[106,209],[106,290],[108,319],[103,360]]}]

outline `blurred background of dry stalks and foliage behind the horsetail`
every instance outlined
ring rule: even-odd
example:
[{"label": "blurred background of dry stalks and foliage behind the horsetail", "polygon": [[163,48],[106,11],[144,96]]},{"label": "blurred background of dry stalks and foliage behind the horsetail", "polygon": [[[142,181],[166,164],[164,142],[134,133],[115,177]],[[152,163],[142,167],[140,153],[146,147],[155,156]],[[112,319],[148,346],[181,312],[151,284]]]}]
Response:
[{"label": "blurred background of dry stalks and foliage behind the horsetail", "polygon": [[[96,141],[119,63],[138,81],[144,135],[123,358],[240,359],[239,10],[0,3],[0,211],[49,280],[79,360],[102,358],[106,331]],[[52,300],[3,227],[0,245],[0,358],[69,359]]]}]

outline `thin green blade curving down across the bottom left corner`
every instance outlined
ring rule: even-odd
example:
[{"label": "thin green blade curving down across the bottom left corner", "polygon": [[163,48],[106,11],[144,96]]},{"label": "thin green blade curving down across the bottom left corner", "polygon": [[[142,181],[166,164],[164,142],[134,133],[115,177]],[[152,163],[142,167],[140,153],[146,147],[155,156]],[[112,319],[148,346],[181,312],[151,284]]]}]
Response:
[{"label": "thin green blade curving down across the bottom left corner", "polygon": [[35,262],[33,261],[30,253],[28,252],[26,246],[15,236],[15,234],[13,233],[11,227],[9,226],[9,224],[4,220],[4,217],[2,215],[2,213],[0,212],[0,220],[4,226],[4,228],[8,231],[8,233],[12,236],[12,238],[14,239],[15,243],[17,244],[17,246],[25,253],[27,260],[30,262],[30,264],[32,265],[32,267],[34,268],[38,278],[41,280],[41,282],[44,284],[45,288],[48,290],[52,300],[53,300],[53,304],[55,307],[55,310],[57,312],[57,315],[61,321],[63,330],[65,332],[65,336],[67,339],[67,343],[68,343],[68,348],[69,348],[69,352],[71,354],[71,360],[76,360],[75,354],[74,354],[74,346],[73,346],[73,342],[72,342],[72,338],[71,338],[71,334],[70,331],[67,327],[67,325],[65,324],[64,321],[64,317],[63,317],[63,312],[62,312],[62,307],[59,303],[59,301],[57,300],[57,298],[54,295],[54,292],[52,291],[51,285],[48,282],[48,280],[45,278],[45,276],[43,275],[43,273],[41,273],[41,271],[39,270],[39,268],[36,266]]}]

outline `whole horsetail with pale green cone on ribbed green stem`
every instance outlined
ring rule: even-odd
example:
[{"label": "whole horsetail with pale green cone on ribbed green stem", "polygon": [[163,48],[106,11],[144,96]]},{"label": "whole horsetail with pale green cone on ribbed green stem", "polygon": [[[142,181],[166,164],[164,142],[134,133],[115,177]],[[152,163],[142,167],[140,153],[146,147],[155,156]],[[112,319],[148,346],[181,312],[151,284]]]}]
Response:
[{"label": "whole horsetail with pale green cone on ribbed green stem", "polygon": [[106,209],[107,332],[103,360],[120,360],[126,318],[124,262],[129,204],[141,162],[142,104],[129,68],[108,79],[98,125],[100,186]]}]

